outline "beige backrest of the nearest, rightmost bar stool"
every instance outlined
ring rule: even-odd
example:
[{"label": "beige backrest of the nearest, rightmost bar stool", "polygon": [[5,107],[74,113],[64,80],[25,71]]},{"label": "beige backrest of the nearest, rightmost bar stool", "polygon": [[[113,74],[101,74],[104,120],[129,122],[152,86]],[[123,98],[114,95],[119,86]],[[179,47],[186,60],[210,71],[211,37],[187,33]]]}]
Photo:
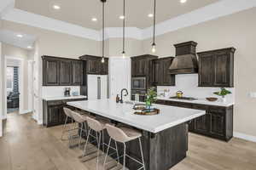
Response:
[{"label": "beige backrest of the nearest, rightmost bar stool", "polygon": [[107,124],[106,128],[109,136],[118,142],[124,143],[130,139],[119,127],[114,127],[112,125]]}]

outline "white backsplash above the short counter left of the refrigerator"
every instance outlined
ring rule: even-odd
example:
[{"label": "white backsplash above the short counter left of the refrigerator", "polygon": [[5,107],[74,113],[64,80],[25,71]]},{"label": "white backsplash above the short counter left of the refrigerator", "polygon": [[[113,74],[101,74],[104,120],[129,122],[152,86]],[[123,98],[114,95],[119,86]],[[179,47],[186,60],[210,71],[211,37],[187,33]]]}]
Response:
[{"label": "white backsplash above the short counter left of the refrigerator", "polygon": [[79,92],[80,94],[79,86],[43,86],[42,97],[64,96],[64,88],[71,88],[71,95],[73,92]]}]

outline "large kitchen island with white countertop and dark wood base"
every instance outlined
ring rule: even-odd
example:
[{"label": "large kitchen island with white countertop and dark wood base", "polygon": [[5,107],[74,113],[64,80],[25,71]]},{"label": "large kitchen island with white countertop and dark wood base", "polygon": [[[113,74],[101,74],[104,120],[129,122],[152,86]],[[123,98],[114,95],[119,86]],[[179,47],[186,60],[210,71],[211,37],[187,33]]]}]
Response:
[{"label": "large kitchen island with white countertop and dark wood base", "polygon": [[[68,102],[67,105],[141,130],[147,170],[168,170],[182,161],[188,150],[187,122],[206,114],[206,111],[154,105],[160,109],[159,115],[139,116],[134,114],[133,105],[117,104],[110,99],[75,101]],[[104,139],[108,143],[108,136]],[[119,147],[119,150],[122,150],[122,144],[119,144]],[[127,144],[127,154],[140,158],[137,150],[137,141]],[[137,163],[131,160],[127,160],[125,166],[137,169]]]}]

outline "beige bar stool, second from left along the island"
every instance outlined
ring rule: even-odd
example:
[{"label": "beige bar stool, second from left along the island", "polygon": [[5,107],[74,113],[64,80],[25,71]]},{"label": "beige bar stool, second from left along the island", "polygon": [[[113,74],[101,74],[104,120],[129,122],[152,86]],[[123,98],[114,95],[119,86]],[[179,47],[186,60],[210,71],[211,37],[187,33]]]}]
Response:
[{"label": "beige bar stool, second from left along the island", "polygon": [[83,132],[86,133],[86,136],[88,135],[88,130],[86,127],[86,121],[87,121],[88,115],[86,114],[82,115],[76,111],[71,111],[71,115],[73,117],[73,120],[79,124],[79,127],[77,129],[79,130],[79,148],[80,148]]}]

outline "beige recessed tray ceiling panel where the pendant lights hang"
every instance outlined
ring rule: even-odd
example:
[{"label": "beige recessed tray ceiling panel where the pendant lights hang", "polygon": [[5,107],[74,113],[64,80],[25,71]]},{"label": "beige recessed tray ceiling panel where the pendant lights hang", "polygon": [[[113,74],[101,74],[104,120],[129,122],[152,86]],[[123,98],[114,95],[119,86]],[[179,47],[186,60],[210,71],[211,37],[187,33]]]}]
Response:
[{"label": "beige recessed tray ceiling panel where the pendant lights hang", "polygon": [[[2,1],[2,0],[1,0]],[[169,20],[181,14],[187,14],[195,9],[205,7],[219,0],[158,0],[157,23]],[[146,28],[152,26],[153,18],[148,18],[153,13],[154,0],[126,0],[126,26]],[[54,4],[61,6],[60,10],[52,8]],[[106,26],[121,27],[122,0],[107,0]],[[62,20],[78,26],[100,30],[102,28],[102,3],[100,0],[16,0],[15,8],[30,13],[40,14],[55,20]],[[97,22],[91,18],[96,17]]]}]

